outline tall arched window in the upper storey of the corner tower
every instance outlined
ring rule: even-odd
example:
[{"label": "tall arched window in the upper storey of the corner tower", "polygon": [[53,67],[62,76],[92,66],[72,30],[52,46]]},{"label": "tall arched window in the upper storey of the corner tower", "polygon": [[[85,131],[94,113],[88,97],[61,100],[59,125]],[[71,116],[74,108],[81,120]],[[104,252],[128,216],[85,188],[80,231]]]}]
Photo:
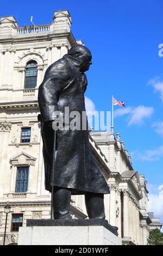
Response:
[{"label": "tall arched window in the upper storey of the corner tower", "polygon": [[37,63],[32,60],[26,67],[25,88],[35,88],[37,84]]}]

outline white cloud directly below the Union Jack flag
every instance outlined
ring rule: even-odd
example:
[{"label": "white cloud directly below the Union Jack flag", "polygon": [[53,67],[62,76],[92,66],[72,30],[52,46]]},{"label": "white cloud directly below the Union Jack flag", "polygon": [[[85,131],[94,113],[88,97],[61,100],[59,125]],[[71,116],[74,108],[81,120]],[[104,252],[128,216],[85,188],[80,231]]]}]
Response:
[{"label": "white cloud directly below the Union Jack flag", "polygon": [[122,115],[129,114],[128,125],[142,125],[143,121],[150,118],[154,112],[153,107],[138,106],[116,109],[114,117],[121,117]]}]

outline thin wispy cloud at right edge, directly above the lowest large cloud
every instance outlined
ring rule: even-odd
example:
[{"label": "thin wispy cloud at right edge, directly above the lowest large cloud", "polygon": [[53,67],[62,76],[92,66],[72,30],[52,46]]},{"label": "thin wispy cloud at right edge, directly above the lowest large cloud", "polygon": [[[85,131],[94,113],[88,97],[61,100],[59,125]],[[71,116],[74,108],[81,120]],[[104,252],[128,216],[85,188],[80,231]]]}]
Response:
[{"label": "thin wispy cloud at right edge, directly above the lowest large cloud", "polygon": [[140,153],[138,150],[131,152],[131,156],[135,160],[142,160],[142,161],[159,161],[160,157],[163,157],[163,145],[157,149],[153,150],[146,150],[143,153]]}]

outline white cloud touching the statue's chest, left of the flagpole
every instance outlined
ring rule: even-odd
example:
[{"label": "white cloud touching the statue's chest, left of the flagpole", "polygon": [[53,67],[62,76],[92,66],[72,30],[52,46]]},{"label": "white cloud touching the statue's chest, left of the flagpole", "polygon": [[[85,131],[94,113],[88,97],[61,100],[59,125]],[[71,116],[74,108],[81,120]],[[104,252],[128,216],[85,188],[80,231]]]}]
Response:
[{"label": "white cloud touching the statue's chest, left of the flagpole", "polygon": [[91,99],[88,97],[85,97],[85,108],[86,108],[86,115],[87,115],[87,120],[90,126],[92,126],[92,117],[97,116],[98,112],[96,111],[95,104]]}]

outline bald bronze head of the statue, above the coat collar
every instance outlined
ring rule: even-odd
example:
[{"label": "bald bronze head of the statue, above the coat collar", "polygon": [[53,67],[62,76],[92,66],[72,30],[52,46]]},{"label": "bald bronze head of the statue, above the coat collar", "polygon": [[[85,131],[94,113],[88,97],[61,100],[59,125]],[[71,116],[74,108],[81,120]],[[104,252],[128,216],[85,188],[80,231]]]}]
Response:
[{"label": "bald bronze head of the statue, above the coat collar", "polygon": [[70,51],[68,51],[68,55],[71,55],[72,57],[80,60],[80,62],[82,63],[80,65],[81,72],[85,72],[85,71],[89,70],[90,65],[92,64],[92,62],[91,62],[92,55],[88,48],[86,48],[83,45],[77,44],[77,45],[73,46],[70,49]]}]

